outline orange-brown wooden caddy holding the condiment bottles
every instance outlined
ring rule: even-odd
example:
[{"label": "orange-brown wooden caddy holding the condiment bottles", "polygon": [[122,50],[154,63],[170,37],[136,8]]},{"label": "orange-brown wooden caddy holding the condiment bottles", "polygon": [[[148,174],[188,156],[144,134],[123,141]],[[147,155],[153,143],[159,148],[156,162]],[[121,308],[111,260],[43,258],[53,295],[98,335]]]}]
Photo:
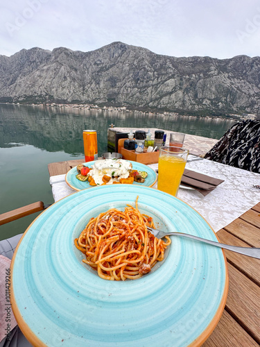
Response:
[{"label": "orange-brown wooden caddy holding the condiment bottles", "polygon": [[125,139],[119,139],[118,151],[125,160],[132,160],[132,162],[141,162],[141,164],[155,164],[159,160],[159,151],[149,153],[135,153],[135,151],[129,151],[123,148],[123,142]]}]

